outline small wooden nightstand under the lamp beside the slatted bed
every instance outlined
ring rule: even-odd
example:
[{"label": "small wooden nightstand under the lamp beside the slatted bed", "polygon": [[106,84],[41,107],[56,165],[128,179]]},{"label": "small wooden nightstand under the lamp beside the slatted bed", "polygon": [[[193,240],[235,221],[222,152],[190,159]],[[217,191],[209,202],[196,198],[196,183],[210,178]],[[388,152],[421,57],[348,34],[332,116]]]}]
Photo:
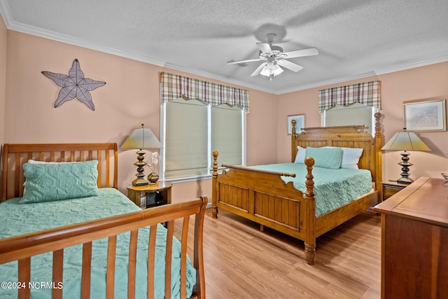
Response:
[{"label": "small wooden nightstand under the lamp beside the slatted bed", "polygon": [[127,197],[141,209],[171,204],[172,183],[158,181],[153,185],[127,186]]}]

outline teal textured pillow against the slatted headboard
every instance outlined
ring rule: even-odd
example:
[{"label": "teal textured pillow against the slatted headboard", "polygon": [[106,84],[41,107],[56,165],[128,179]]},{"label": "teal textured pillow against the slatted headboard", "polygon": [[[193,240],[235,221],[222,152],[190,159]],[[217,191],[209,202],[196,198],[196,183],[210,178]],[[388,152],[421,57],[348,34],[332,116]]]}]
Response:
[{"label": "teal textured pillow against the slatted headboard", "polygon": [[23,165],[27,192],[20,204],[98,195],[98,161]]}]

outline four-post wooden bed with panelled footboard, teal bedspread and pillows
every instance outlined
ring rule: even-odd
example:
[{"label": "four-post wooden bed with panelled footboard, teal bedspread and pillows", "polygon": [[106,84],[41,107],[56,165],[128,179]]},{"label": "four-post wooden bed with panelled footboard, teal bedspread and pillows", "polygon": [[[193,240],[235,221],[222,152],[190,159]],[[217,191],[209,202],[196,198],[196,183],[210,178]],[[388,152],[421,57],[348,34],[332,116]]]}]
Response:
[{"label": "four-post wooden bed with panelled footboard, teal bedspread and pillows", "polygon": [[[293,121],[293,163],[221,165],[228,170],[218,174],[218,153],[214,152],[213,218],[218,217],[218,209],[225,209],[260,223],[261,230],[267,226],[300,239],[305,261],[314,264],[316,237],[381,198],[380,117],[375,113],[374,137],[364,126],[303,128],[302,134],[296,134]],[[353,152],[360,156],[348,156]],[[331,181],[322,179],[327,172]]]}]

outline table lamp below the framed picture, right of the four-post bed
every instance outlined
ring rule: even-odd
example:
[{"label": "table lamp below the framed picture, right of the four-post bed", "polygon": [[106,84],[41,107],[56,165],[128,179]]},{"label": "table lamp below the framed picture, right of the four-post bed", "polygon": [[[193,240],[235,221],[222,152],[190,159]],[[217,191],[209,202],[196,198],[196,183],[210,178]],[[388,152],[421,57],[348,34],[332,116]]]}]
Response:
[{"label": "table lamp below the framed picture, right of the four-post bed", "polygon": [[398,132],[393,135],[393,137],[387,141],[386,144],[381,148],[381,150],[388,151],[402,151],[401,153],[401,162],[398,165],[401,165],[401,177],[397,180],[397,183],[412,183],[414,180],[409,178],[409,166],[412,166],[412,163],[409,162],[409,155],[407,151],[431,151],[426,144],[414,133],[407,132],[406,128],[403,129],[403,132]]}]

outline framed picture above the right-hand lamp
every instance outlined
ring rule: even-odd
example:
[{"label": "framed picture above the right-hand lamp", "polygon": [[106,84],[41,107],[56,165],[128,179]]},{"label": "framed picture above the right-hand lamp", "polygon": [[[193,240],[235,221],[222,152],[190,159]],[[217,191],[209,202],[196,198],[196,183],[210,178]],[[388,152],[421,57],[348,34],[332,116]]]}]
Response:
[{"label": "framed picture above the right-hand lamp", "polygon": [[403,102],[404,125],[409,132],[447,130],[446,99],[442,97]]}]

